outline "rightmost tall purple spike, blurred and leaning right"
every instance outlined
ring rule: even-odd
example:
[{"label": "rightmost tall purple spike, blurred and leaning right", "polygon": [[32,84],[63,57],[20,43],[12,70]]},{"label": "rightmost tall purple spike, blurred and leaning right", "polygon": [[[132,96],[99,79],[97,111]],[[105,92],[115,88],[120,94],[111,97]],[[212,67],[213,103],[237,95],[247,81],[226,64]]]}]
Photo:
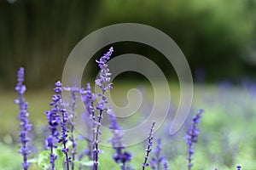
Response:
[{"label": "rightmost tall purple spike, blurred and leaning right", "polygon": [[187,140],[187,144],[189,147],[189,156],[188,156],[188,169],[190,170],[191,167],[193,166],[192,163],[192,155],[195,153],[194,151],[194,143],[197,142],[197,137],[198,134],[200,133],[199,128],[197,127],[197,124],[201,121],[201,114],[204,112],[204,110],[200,110],[194,117],[193,117],[193,122],[192,126],[188,129],[186,136],[184,139]]}]

